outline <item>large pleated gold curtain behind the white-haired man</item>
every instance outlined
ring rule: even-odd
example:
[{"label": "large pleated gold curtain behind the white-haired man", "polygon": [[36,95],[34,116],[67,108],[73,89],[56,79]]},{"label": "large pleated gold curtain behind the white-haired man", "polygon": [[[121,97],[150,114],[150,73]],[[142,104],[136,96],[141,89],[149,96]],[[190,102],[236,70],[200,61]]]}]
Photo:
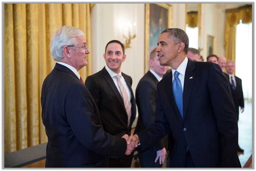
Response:
[{"label": "large pleated gold curtain behind the white-haired man", "polygon": [[[55,61],[54,32],[73,26],[85,32],[91,47],[90,4],[5,4],[5,153],[47,142],[41,117],[41,88]],[[79,71],[85,80],[88,66]]]}]

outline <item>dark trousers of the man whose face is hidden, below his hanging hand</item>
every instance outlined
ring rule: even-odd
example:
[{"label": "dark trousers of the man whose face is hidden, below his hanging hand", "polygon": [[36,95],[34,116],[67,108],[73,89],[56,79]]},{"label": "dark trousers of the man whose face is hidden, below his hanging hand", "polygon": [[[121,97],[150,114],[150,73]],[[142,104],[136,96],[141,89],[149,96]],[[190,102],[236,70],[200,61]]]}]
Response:
[{"label": "dark trousers of the man whose face is hidden, below his hanging hand", "polygon": [[140,167],[158,168],[162,167],[163,164],[159,164],[159,159],[155,163],[156,155],[151,156],[143,153],[138,153]]}]

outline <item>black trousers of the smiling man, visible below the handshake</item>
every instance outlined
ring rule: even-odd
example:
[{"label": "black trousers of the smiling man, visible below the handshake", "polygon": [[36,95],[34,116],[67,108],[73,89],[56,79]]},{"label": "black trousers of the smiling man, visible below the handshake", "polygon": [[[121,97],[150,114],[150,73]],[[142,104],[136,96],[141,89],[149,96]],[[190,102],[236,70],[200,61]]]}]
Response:
[{"label": "black trousers of the smiling man, visible below the handshake", "polygon": [[131,167],[134,151],[130,155],[123,155],[119,159],[109,158],[109,167]]}]

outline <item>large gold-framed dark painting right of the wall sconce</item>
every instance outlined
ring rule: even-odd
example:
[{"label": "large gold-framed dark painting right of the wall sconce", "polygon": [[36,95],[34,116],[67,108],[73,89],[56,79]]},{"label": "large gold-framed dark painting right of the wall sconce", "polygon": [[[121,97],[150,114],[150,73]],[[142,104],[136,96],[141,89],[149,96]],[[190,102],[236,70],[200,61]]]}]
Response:
[{"label": "large gold-framed dark painting right of the wall sconce", "polygon": [[145,4],[145,73],[150,69],[149,54],[157,47],[160,33],[172,26],[172,5]]}]

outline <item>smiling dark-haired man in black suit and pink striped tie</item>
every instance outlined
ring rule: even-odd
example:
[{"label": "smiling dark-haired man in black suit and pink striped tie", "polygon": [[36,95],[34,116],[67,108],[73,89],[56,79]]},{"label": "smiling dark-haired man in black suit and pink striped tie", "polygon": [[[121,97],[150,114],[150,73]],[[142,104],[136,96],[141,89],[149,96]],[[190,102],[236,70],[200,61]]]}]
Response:
[{"label": "smiling dark-haired man in black suit and pink striped tie", "polygon": [[[106,66],[87,77],[85,85],[100,110],[109,134],[120,137],[130,135],[136,117],[136,102],[131,88],[132,78],[121,72],[121,64],[126,59],[124,45],[118,40],[110,41],[103,57]],[[131,167],[133,153],[120,159],[109,158],[109,167]]]}]

